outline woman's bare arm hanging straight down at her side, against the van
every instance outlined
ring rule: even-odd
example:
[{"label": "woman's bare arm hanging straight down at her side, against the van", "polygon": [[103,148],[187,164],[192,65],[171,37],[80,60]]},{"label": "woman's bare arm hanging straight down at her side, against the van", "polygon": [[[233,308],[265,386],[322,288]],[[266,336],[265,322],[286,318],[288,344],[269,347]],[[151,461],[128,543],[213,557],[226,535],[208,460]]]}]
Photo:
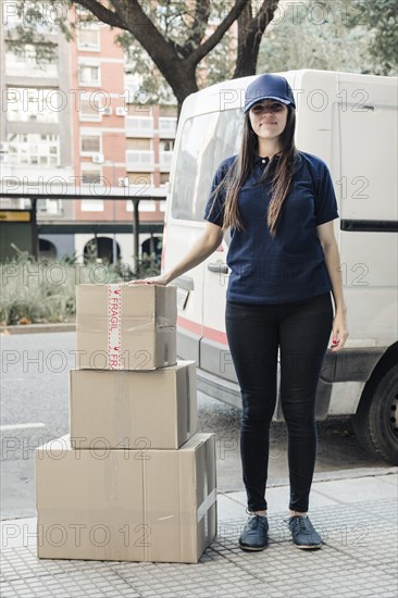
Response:
[{"label": "woman's bare arm hanging straight down at her side, against the van", "polygon": [[339,337],[338,348],[332,349],[332,351],[336,351],[344,347],[348,338],[348,331],[346,321],[347,307],[344,300],[340,275],[340,257],[335,238],[333,221],[316,226],[316,234],[322,245],[327,272],[332,282],[332,292],[336,308],[333,322],[333,340],[336,339],[337,336]]}]

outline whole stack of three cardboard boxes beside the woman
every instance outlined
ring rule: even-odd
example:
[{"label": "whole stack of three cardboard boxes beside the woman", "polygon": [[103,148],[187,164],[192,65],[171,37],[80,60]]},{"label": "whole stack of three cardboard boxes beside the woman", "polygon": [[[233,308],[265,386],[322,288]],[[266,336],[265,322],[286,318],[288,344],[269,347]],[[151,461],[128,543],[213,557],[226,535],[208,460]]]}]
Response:
[{"label": "whole stack of three cardboard boxes beside the woman", "polygon": [[36,449],[38,557],[198,562],[216,532],[215,444],[176,360],[176,287],[80,285],[70,435]]}]

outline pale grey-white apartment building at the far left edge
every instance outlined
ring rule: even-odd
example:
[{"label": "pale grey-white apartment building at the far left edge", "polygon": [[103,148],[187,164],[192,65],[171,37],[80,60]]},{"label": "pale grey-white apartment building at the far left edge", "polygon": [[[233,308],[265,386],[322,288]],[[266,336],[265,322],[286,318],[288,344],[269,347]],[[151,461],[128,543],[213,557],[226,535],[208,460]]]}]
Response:
[{"label": "pale grey-white apartment building at the far left edge", "polygon": [[[4,17],[5,16],[5,17]],[[25,45],[23,52],[13,49],[15,26],[21,23],[13,11],[3,12],[0,21],[0,166],[10,187],[18,185],[26,192],[37,191],[49,182],[71,182],[72,162],[70,47],[63,36],[53,33],[51,23],[42,23],[40,33],[55,45],[54,59],[38,64],[36,48]],[[2,200],[2,208],[29,208],[27,199]],[[37,202],[40,220],[72,219],[72,203],[49,195]],[[73,253],[73,237],[58,239],[60,253]],[[52,237],[42,235],[40,251],[54,256]]]}]

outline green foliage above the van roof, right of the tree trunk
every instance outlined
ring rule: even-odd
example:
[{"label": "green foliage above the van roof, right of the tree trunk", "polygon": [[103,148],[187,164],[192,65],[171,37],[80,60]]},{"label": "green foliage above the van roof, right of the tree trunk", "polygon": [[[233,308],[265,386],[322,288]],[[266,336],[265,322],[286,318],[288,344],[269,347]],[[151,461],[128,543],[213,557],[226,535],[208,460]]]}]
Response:
[{"label": "green foliage above the van roof, right of the tree trunk", "polygon": [[[266,29],[258,73],[319,68],[393,75],[395,0],[288,3]],[[389,5],[389,8],[387,7]],[[388,42],[382,42],[381,28]]]}]

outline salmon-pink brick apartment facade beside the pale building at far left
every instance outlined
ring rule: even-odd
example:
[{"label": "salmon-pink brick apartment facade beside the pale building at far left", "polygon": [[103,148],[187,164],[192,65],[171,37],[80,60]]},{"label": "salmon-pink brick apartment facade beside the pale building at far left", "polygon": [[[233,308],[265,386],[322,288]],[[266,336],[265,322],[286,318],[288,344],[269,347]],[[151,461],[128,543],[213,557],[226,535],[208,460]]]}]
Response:
[{"label": "salmon-pink brick apartment facade beside the pale building at far left", "polygon": [[119,187],[126,176],[124,55],[115,43],[117,30],[87,23],[74,11],[71,18],[76,23],[70,45],[71,83],[78,95],[72,113],[74,171],[77,185],[94,198],[74,201],[75,251],[116,262],[128,254],[128,239],[116,233],[116,225],[130,217],[126,202],[99,194]]}]

